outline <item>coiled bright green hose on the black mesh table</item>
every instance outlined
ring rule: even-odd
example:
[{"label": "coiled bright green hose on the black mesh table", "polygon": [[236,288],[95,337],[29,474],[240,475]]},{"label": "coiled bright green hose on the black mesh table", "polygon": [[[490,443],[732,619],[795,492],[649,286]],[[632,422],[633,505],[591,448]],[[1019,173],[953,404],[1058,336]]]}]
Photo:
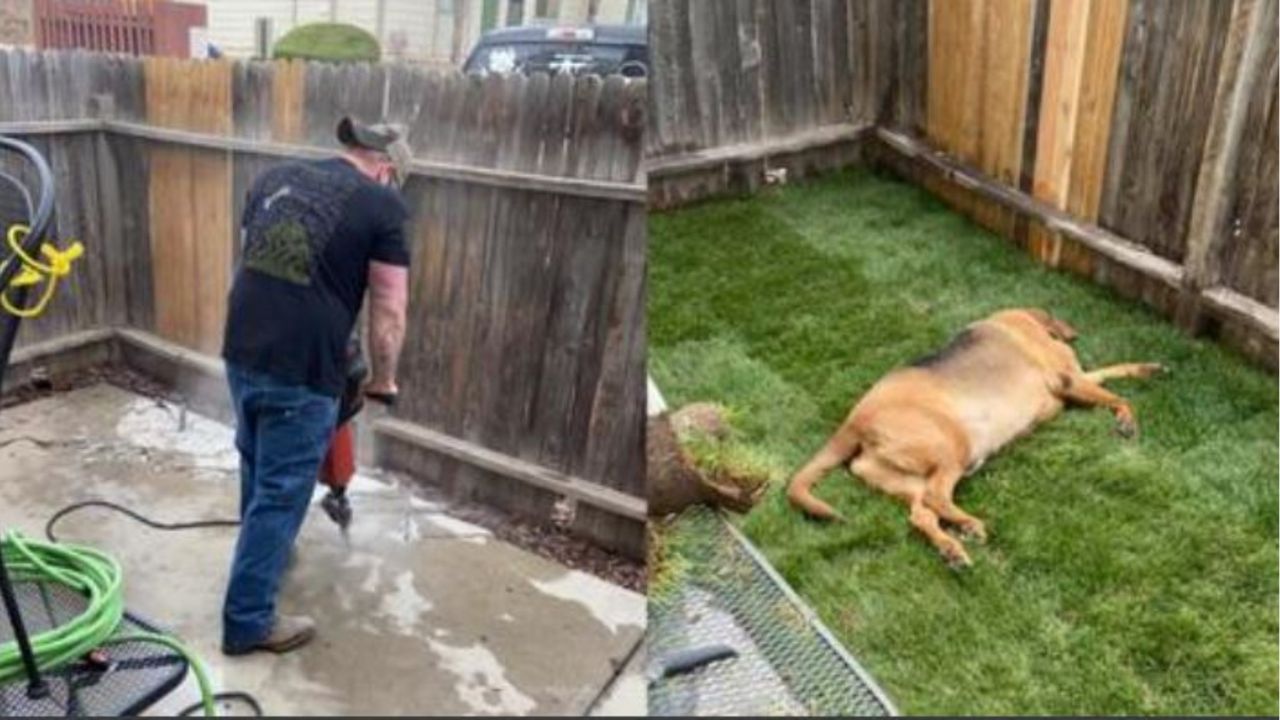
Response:
[{"label": "coiled bright green hose on the black mesh table", "polygon": [[[61,667],[104,646],[163,644],[187,659],[200,685],[205,715],[216,715],[209,673],[177,638],[160,633],[115,634],[124,618],[123,573],[115,559],[91,547],[33,541],[17,530],[0,539],[0,552],[15,582],[59,583],[88,600],[88,607],[69,623],[32,635],[32,650],[41,670]],[[23,674],[17,642],[0,644],[0,683]]]}]

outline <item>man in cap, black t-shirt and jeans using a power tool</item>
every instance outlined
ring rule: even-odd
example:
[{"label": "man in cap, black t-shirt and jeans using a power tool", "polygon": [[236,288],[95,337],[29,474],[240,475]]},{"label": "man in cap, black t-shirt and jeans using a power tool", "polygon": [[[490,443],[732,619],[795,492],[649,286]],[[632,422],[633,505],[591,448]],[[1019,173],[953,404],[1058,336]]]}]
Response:
[{"label": "man in cap, black t-shirt and jeans using a power tool", "polygon": [[390,402],[404,341],[412,154],[389,126],[338,124],[339,158],[259,177],[242,218],[243,252],[223,357],[241,455],[241,532],[223,609],[223,652],[287,652],[315,635],[275,600],[339,418],[348,341],[370,300],[365,395]]}]

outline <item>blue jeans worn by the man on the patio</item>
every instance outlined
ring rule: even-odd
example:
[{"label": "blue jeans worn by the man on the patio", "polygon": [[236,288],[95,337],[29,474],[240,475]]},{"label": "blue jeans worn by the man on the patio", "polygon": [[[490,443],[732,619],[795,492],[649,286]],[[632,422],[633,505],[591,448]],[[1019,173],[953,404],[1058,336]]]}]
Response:
[{"label": "blue jeans worn by the man on the patio", "polygon": [[241,532],[223,605],[223,646],[266,639],[289,552],[338,420],[338,400],[227,366],[241,455]]}]

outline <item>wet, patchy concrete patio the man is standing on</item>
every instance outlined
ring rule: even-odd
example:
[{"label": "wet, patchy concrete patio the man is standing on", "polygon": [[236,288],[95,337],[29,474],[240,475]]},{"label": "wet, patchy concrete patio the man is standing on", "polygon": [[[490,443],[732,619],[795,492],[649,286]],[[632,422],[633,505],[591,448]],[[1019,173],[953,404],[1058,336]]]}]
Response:
[{"label": "wet, patchy concrete patio the man is standing on", "polygon": [[[111,386],[0,413],[0,529],[42,537],[59,507],[88,498],[163,521],[234,518],[238,482],[230,428]],[[234,529],[159,532],[88,509],[58,534],[114,555],[129,610],[271,715],[645,712],[641,596],[499,542],[376,471],[349,492],[348,539],[319,507],[303,527],[280,610],[315,618],[319,635],[284,656],[219,652]],[[188,679],[154,710],[195,700]]]}]

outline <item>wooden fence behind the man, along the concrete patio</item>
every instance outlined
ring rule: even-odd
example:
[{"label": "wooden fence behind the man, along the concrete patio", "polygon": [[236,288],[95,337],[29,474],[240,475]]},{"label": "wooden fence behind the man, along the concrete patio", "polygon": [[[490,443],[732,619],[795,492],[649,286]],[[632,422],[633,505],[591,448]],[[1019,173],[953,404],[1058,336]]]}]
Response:
[{"label": "wooden fence behind the man, along the concrete patio", "polygon": [[[0,132],[61,181],[91,249],[22,342],[128,327],[221,343],[244,191],[337,147],[346,113],[410,128],[412,299],[385,461],[639,552],[644,516],[644,83],[404,67],[0,55]],[[86,119],[88,118],[88,119]]]}]

